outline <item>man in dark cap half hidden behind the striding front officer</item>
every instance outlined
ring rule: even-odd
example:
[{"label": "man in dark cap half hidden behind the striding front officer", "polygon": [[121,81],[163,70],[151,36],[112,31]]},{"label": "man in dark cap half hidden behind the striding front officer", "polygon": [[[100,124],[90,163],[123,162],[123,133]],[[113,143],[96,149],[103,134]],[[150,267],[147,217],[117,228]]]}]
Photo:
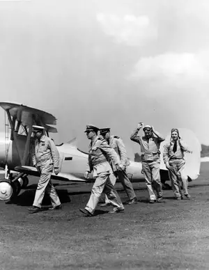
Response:
[{"label": "man in dark cap half hidden behind the striding front officer", "polygon": [[[103,136],[103,138],[107,141],[109,146],[115,150],[115,152],[118,154],[119,159],[121,160],[121,164],[123,165],[122,170],[118,170],[114,163],[110,161],[111,168],[114,171],[114,175],[111,175],[111,182],[113,185],[116,184],[116,177],[119,178],[121,181],[121,184],[123,184],[123,188],[125,189],[125,192],[127,193],[127,196],[129,200],[125,202],[128,205],[132,205],[134,203],[137,203],[137,197],[134,192],[132,183],[127,177],[126,174],[126,167],[130,165],[130,161],[127,159],[127,152],[125,150],[125,145],[122,141],[122,139],[118,136],[113,136],[110,133],[110,128],[104,128],[100,129],[100,134]],[[100,205],[101,207],[109,205],[109,200],[107,196],[105,196],[105,203],[104,205]]]}]

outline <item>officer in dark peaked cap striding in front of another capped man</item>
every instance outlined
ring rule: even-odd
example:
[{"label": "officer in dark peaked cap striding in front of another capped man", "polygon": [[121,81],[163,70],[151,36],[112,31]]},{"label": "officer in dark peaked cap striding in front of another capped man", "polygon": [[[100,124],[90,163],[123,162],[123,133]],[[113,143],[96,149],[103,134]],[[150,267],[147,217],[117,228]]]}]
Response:
[{"label": "officer in dark peaked cap striding in front of another capped man", "polygon": [[84,209],[79,209],[86,216],[93,216],[102,192],[107,194],[111,205],[114,205],[114,209],[109,213],[114,214],[124,211],[121,198],[118,196],[117,191],[109,179],[111,166],[107,159],[112,159],[118,170],[119,168],[123,168],[123,165],[118,159],[116,152],[109,147],[107,141],[98,138],[98,131],[98,127],[94,125],[87,125],[85,130],[87,138],[91,140],[85,177],[88,179],[88,174],[91,171],[93,171],[93,177],[95,177],[95,183],[93,184],[88,203]]}]

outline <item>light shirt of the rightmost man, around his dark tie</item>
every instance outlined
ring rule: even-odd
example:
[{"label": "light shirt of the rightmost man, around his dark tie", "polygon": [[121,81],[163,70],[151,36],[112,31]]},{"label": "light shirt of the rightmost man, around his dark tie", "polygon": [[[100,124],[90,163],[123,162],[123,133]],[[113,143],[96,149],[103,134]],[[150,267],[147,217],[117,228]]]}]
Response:
[{"label": "light shirt of the rightmost man, around his dark tie", "polygon": [[188,146],[182,141],[177,141],[177,150],[173,152],[174,141],[164,145],[163,160],[167,163],[170,159],[184,159],[184,152],[191,152]]}]

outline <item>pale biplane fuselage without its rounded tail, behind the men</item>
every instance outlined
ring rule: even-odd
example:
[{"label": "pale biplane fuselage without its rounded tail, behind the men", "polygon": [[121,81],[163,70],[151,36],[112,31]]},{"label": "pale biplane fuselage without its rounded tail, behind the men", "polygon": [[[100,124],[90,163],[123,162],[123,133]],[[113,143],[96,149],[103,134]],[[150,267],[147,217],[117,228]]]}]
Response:
[{"label": "pale biplane fuselage without its rounded tail, behind the men", "polygon": [[[23,157],[26,136],[17,134],[17,143],[20,150],[20,156]],[[33,137],[31,137],[31,145],[33,143]],[[84,180],[84,173],[86,171],[86,165],[88,161],[88,154],[77,149],[75,145],[70,143],[63,143],[56,145],[61,157],[61,173],[63,175],[69,175],[72,179],[79,178]],[[7,160],[6,160],[7,153]],[[4,138],[2,133],[0,136],[0,166],[3,167],[8,164],[10,170],[14,170],[15,166],[20,166],[21,161],[14,141]],[[31,157],[31,147],[27,153],[26,166],[33,166]],[[130,161],[130,166],[127,167],[127,176],[132,182],[144,181],[144,175],[141,173],[141,163]],[[93,178],[92,174],[89,175]]]}]

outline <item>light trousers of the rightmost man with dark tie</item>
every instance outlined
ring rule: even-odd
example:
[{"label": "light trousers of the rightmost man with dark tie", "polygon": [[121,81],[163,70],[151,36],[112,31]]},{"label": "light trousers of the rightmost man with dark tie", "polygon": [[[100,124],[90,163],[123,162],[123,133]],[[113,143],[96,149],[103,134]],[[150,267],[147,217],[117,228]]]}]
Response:
[{"label": "light trousers of the rightmost man with dark tie", "polygon": [[183,192],[185,195],[188,194],[188,180],[185,175],[185,160],[184,159],[170,159],[169,160],[169,178],[173,189],[174,196],[180,198],[181,194],[181,183],[183,184]]}]

